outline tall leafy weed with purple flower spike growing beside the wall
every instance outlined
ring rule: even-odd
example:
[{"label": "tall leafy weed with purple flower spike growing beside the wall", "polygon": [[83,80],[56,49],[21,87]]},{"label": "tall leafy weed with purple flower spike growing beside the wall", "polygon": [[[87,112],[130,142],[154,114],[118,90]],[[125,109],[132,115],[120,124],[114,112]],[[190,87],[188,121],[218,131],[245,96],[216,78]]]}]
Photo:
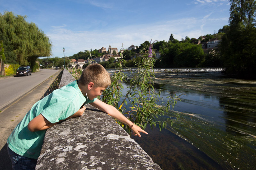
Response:
[{"label": "tall leafy weed with purple flower spike growing beside the wall", "polygon": [[[179,114],[172,112],[170,107],[173,108],[180,99],[179,96],[170,94],[163,100],[161,90],[156,92],[153,86],[155,78],[153,67],[156,59],[152,48],[154,42],[151,41],[149,47],[140,52],[141,60],[135,63],[137,66],[135,71],[130,70],[129,78],[123,70],[124,60],[121,59],[117,63],[116,71],[111,77],[111,85],[102,93],[101,100],[119,109],[130,121],[143,129],[147,125],[150,125],[151,129],[158,125],[162,130],[166,128],[167,123],[172,125],[173,121],[179,118]],[[122,54],[121,58],[123,58]],[[130,84],[126,95],[122,93],[124,82]],[[161,116],[165,116],[164,119]],[[131,134],[131,129],[127,125],[118,123]]]}]

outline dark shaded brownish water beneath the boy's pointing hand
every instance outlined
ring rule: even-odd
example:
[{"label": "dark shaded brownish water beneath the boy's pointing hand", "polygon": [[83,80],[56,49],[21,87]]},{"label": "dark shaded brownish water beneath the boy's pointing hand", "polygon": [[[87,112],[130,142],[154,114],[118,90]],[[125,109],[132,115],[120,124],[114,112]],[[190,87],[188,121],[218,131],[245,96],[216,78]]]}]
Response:
[{"label": "dark shaded brownish water beneath the boy's pointing hand", "polygon": [[155,163],[164,170],[169,169],[202,169],[221,170],[219,164],[204,152],[167,129],[153,131],[148,126],[148,135],[132,137],[148,153]]}]

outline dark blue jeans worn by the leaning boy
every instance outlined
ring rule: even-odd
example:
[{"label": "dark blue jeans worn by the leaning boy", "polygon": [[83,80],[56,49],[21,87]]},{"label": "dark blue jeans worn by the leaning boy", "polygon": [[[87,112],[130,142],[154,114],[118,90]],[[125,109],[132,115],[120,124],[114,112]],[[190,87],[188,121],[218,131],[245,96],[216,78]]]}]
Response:
[{"label": "dark blue jeans worn by the leaning boy", "polygon": [[8,146],[7,151],[9,157],[12,161],[12,169],[14,170],[24,170],[24,169],[35,169],[37,159],[28,158],[25,156],[20,156],[17,153],[13,152]]}]

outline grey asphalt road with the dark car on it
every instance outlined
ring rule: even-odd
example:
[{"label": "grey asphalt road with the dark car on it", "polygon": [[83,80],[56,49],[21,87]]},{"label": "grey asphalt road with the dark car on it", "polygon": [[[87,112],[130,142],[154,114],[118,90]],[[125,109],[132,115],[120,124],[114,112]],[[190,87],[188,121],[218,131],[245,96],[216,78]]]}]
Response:
[{"label": "grey asphalt road with the dark car on it", "polygon": [[41,69],[31,76],[8,77],[0,79],[0,110],[29,92],[59,70]]}]

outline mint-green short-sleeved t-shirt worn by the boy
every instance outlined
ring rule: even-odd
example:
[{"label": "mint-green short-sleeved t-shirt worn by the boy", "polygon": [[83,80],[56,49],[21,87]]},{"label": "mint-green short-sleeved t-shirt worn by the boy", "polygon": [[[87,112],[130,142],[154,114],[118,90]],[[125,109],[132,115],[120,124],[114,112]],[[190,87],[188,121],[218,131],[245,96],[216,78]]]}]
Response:
[{"label": "mint-green short-sleeved t-shirt worn by the boy", "polygon": [[37,159],[42,149],[46,130],[31,132],[28,130],[28,123],[39,114],[42,114],[51,123],[65,120],[76,113],[85,101],[85,104],[87,104],[95,100],[96,98],[86,100],[77,85],[77,81],[54,90],[51,94],[36,102],[15,127],[7,139],[9,148],[19,155]]}]

